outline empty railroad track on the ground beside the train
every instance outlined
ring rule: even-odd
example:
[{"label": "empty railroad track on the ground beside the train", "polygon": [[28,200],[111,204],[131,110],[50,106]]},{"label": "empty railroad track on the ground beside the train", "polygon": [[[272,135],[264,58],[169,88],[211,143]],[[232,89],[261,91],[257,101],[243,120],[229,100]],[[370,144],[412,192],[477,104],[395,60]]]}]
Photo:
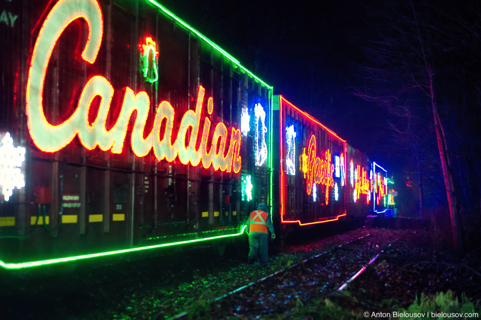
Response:
[{"label": "empty railroad track on the ground beside the train", "polygon": [[[242,315],[243,317],[247,316],[248,314],[262,315],[262,314],[267,314],[267,313],[276,312],[276,311],[278,312],[287,311],[287,310],[276,310],[275,307],[283,304],[285,305],[286,300],[292,300],[292,299],[295,299],[296,301],[303,303],[302,300],[309,300],[310,298],[313,298],[313,296],[311,295],[314,295],[310,293],[304,294],[305,292],[299,294],[299,292],[297,292],[296,289],[294,289],[296,282],[299,282],[301,280],[304,286],[310,287],[310,288],[316,288],[316,290],[314,290],[316,292],[315,294],[319,294],[321,291],[326,291],[326,290],[335,291],[336,289],[335,284],[342,283],[343,279],[341,278],[343,276],[344,278],[346,277],[344,274],[336,275],[335,272],[332,272],[333,274],[328,274],[327,275],[328,278],[324,279],[324,282],[319,281],[319,278],[322,277],[321,273],[325,271],[325,267],[330,265],[332,267],[331,270],[333,270],[335,269],[336,258],[341,258],[342,260],[342,256],[345,255],[346,253],[352,253],[356,250],[359,251],[360,247],[365,249],[367,246],[368,248],[370,248],[370,250],[362,254],[362,256],[359,256],[358,263],[355,263],[352,269],[356,269],[356,267],[360,265],[362,265],[363,267],[361,268],[361,270],[357,271],[353,276],[351,276],[346,282],[344,282],[343,285],[337,288],[338,290],[342,290],[348,285],[349,282],[351,282],[357,276],[359,276],[367,268],[368,265],[372,264],[379,256],[379,253],[377,253],[377,255],[375,255],[374,258],[368,258],[368,255],[373,250],[381,251],[382,247],[386,246],[385,244],[383,245],[383,243],[375,243],[376,239],[374,239],[374,241],[372,241],[371,243],[369,238],[376,232],[377,231],[374,231],[372,233],[363,235],[361,237],[354,238],[350,241],[346,241],[322,253],[313,255],[307,259],[301,260],[295,264],[287,266],[286,268],[283,268],[267,276],[264,276],[256,281],[240,286],[228,293],[225,293],[216,297],[214,300],[211,301],[211,303],[213,304],[220,303],[221,305],[228,306],[229,308],[233,306],[233,308],[237,312],[234,311],[233,314],[231,315],[234,315],[234,316]],[[381,241],[381,239],[378,239],[378,240]],[[368,261],[368,262],[366,263],[365,261]],[[321,265],[323,267],[320,267]],[[294,271],[296,270],[296,268],[304,268],[303,272],[309,275],[307,277],[303,276],[302,279],[295,278],[296,275]],[[316,272],[316,270],[321,272]],[[291,279],[292,281],[289,281],[289,279]],[[323,287],[322,288],[320,287],[319,289],[317,289],[317,286],[322,285],[322,282],[324,283]],[[279,294],[276,294],[276,296],[271,295],[270,297],[266,297],[266,296],[259,296],[259,294],[256,293],[256,287],[262,286],[262,285],[267,287],[269,286],[269,284],[278,285],[277,292],[279,292]],[[292,293],[292,294],[289,294],[289,293]],[[257,297],[255,297],[255,295],[257,295]],[[257,298],[258,301],[253,301],[253,299],[255,298]],[[254,304],[259,307],[255,309],[244,309],[243,304],[245,304],[246,302],[250,302],[250,303],[254,302]],[[223,308],[223,309],[226,309],[226,308]],[[170,318],[170,320],[183,318],[187,315],[188,315],[188,312],[184,311],[173,316],[172,318]],[[222,318],[226,314],[218,314],[218,315],[219,317]],[[215,318],[216,315],[214,314],[213,317]]]}]

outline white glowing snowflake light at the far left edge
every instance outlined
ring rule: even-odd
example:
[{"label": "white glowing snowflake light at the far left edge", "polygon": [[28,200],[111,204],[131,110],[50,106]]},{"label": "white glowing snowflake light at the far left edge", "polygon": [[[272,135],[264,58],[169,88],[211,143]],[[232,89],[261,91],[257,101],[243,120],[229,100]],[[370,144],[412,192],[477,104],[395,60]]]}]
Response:
[{"label": "white glowing snowflake light at the far left edge", "polygon": [[0,141],[0,194],[8,201],[15,188],[25,186],[22,163],[25,161],[25,147],[14,146],[10,132],[5,133]]}]

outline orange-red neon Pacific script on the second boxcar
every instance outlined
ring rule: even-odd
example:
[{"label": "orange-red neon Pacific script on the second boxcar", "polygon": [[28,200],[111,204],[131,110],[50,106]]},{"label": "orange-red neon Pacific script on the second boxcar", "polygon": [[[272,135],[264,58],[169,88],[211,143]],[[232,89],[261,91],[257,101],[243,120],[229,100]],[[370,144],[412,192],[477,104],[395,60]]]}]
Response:
[{"label": "orange-red neon Pacific script on the second boxcar", "polygon": [[[324,152],[324,159],[316,156],[317,145],[316,136],[313,134],[309,139],[309,147],[307,152],[307,157],[303,156],[303,162],[307,164],[307,168],[303,165],[303,170],[307,169],[307,182],[306,182],[306,192],[311,194],[312,184],[320,183],[326,186],[326,193],[330,186],[334,186],[333,173],[334,164],[331,161],[331,151],[327,149]],[[305,159],[305,161],[304,161]],[[327,196],[326,196],[327,198]],[[328,200],[326,200],[327,202]]]}]

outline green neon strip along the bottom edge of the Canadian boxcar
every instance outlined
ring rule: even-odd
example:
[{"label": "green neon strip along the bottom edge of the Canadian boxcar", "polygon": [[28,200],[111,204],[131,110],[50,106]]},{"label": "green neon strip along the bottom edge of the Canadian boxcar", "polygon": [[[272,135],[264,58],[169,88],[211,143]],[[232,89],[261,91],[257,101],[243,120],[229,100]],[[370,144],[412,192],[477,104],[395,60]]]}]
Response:
[{"label": "green neon strip along the bottom edge of the Canadian boxcar", "polygon": [[33,267],[33,266],[39,266],[39,265],[54,264],[54,263],[60,263],[60,262],[68,262],[68,261],[75,261],[75,260],[93,258],[93,257],[98,257],[98,256],[106,256],[106,255],[141,251],[141,250],[147,250],[147,249],[154,249],[154,248],[160,248],[160,247],[164,247],[164,246],[172,246],[172,245],[200,242],[200,241],[205,241],[205,240],[220,239],[220,238],[224,238],[224,237],[228,237],[228,236],[237,236],[237,235],[243,234],[245,229],[246,229],[246,225],[244,225],[242,227],[242,230],[240,230],[240,232],[233,233],[233,234],[216,235],[216,236],[212,236],[212,237],[209,237],[209,238],[185,240],[185,241],[178,241],[178,242],[172,242],[172,243],[154,244],[154,245],[141,246],[141,247],[130,248],[130,249],[107,251],[107,252],[92,253],[92,254],[83,254],[83,255],[69,256],[69,257],[56,258],[56,259],[31,261],[31,262],[21,262],[21,263],[6,263],[3,260],[0,260],[0,265],[3,266],[6,269],[21,269],[21,268],[27,268],[27,267]]}]

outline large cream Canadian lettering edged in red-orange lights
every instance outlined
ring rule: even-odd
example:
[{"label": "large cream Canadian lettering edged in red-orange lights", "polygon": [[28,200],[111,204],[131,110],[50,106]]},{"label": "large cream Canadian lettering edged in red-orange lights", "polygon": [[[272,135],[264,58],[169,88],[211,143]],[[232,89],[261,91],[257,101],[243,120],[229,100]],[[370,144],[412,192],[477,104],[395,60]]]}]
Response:
[{"label": "large cream Canadian lettering edged in red-orange lights", "polygon": [[[55,152],[69,144],[78,136],[87,149],[99,147],[103,151],[121,153],[127,133],[127,125],[132,113],[136,111],[135,122],[131,132],[130,144],[135,155],[145,156],[153,148],[155,157],[160,161],[173,161],[177,156],[183,164],[210,165],[215,170],[237,173],[240,170],[240,138],[239,129],[230,130],[230,139],[226,126],[219,122],[215,125],[208,145],[210,119],[205,116],[199,138],[200,118],[205,89],[199,85],[195,110],[187,110],[180,121],[175,141],[172,142],[172,130],[175,111],[168,101],[159,103],[153,128],[144,132],[150,107],[150,99],[145,91],[134,93],[126,87],[123,101],[115,124],[106,129],[114,88],[102,75],[92,76],[82,89],[77,108],[64,122],[53,125],[45,117],[42,95],[45,86],[47,67],[52,51],[60,35],[74,20],[82,18],[88,25],[88,38],[82,51],[82,59],[94,63],[102,42],[103,16],[97,0],[60,0],[45,19],[35,42],[27,82],[26,112],[28,127],[34,144],[42,151]],[[89,109],[95,97],[101,102],[92,124],[89,122]],[[207,99],[207,113],[212,114],[213,99]],[[165,128],[165,130],[161,130]],[[191,128],[189,130],[189,128]],[[163,136],[160,132],[164,131]],[[189,134],[190,133],[190,134]],[[144,136],[146,136],[144,138]],[[197,146],[198,145],[198,146]]]}]

